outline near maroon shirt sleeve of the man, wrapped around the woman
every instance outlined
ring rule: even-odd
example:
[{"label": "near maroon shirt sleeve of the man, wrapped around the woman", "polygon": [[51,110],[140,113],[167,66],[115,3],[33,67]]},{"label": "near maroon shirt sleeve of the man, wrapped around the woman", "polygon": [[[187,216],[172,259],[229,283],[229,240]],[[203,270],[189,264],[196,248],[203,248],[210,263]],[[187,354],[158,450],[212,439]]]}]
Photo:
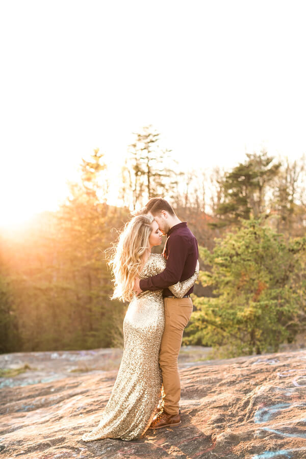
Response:
[{"label": "near maroon shirt sleeve of the man, wrapped around the woman", "polygon": [[171,235],[167,240],[168,258],[164,271],[148,279],[141,279],[140,288],[144,292],[161,290],[181,280],[188,254],[188,239],[182,235]]}]

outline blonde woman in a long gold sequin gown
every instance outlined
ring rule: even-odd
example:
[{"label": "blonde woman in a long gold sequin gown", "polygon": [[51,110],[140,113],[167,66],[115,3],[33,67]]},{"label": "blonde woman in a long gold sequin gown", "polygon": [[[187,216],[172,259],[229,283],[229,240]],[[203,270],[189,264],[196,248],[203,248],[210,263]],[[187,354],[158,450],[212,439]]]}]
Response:
[{"label": "blonde woman in a long gold sequin gown", "polygon": [[[158,363],[164,330],[162,290],[133,292],[135,276],[145,278],[166,267],[161,254],[151,253],[160,245],[157,222],[148,215],[138,215],[126,223],[110,261],[115,277],[113,298],[130,301],[123,321],[123,356],[111,397],[97,427],[85,433],[89,442],[103,438],[134,440],[149,427],[162,391]],[[173,295],[183,297],[198,277],[198,264],[192,277],[169,287]]]}]

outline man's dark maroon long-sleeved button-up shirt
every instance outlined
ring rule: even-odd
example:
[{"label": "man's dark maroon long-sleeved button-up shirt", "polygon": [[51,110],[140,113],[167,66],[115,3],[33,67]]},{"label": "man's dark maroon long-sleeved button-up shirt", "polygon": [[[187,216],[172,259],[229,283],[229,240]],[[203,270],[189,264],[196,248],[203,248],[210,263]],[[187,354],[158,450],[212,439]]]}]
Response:
[{"label": "man's dark maroon long-sleeved button-up shirt", "polygon": [[[163,296],[173,295],[167,287],[179,281],[186,281],[194,274],[199,251],[197,240],[186,221],[170,228],[163,255],[167,260],[166,269],[156,276],[141,279],[139,286],[142,291],[154,292],[163,289]],[[193,286],[186,295],[192,292]]]}]

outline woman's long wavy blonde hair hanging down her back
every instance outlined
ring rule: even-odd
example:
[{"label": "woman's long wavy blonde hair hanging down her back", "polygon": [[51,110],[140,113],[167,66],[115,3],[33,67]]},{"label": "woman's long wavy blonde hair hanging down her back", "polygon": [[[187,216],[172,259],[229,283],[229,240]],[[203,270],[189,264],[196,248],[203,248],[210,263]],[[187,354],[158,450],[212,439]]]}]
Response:
[{"label": "woman's long wavy blonde hair hanging down her back", "polygon": [[108,262],[114,275],[114,293],[111,299],[131,301],[135,277],[142,269],[142,256],[149,249],[149,236],[153,217],[137,215],[125,223],[118,242],[113,245],[112,256]]}]

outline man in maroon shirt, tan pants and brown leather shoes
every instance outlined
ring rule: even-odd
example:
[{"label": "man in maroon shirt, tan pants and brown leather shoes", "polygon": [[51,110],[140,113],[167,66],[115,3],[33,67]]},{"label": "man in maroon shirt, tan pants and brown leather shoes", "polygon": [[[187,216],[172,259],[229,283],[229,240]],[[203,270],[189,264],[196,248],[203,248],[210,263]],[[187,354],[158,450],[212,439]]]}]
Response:
[{"label": "man in maroon shirt, tan pants and brown leather shoes", "polygon": [[177,358],[179,356],[183,331],[192,313],[190,293],[185,297],[176,298],[167,288],[179,281],[190,277],[198,259],[197,240],[187,227],[187,222],[181,221],[175,215],[170,204],[162,198],[150,199],[141,210],[153,216],[160,231],[167,235],[163,255],[167,260],[166,269],[148,279],[136,278],[134,290],[136,294],[142,291],[163,289],[165,307],[165,328],[162,336],[159,364],[162,370],[164,387],[163,411],[155,416],[150,428],[161,428],[181,424],[179,401],[181,384]]}]

